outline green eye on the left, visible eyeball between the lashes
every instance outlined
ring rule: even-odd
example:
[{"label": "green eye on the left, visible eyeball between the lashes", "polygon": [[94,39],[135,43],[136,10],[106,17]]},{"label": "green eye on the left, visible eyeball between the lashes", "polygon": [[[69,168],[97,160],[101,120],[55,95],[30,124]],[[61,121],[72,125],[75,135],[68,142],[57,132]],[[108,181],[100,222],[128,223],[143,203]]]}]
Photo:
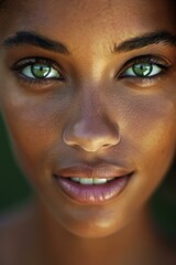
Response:
[{"label": "green eye on the left, visible eyeball between the lashes", "polygon": [[43,63],[35,63],[35,64],[31,64],[28,66],[24,66],[21,70],[21,73],[29,78],[33,78],[33,80],[47,80],[47,78],[59,78],[62,80],[63,76],[62,74],[55,70],[54,67],[52,67],[51,65],[47,64],[43,64]]}]

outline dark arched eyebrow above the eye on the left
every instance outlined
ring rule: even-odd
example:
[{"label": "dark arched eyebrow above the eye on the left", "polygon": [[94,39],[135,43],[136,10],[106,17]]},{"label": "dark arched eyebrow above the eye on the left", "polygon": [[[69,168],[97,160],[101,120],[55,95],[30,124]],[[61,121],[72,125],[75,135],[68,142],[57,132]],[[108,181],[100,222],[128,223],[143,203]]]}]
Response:
[{"label": "dark arched eyebrow above the eye on the left", "polygon": [[14,35],[6,39],[2,45],[4,47],[13,47],[22,44],[30,44],[33,46],[42,47],[44,50],[62,54],[69,54],[67,47],[63,43],[53,41],[51,39],[47,39],[46,36],[29,31],[16,32]]}]

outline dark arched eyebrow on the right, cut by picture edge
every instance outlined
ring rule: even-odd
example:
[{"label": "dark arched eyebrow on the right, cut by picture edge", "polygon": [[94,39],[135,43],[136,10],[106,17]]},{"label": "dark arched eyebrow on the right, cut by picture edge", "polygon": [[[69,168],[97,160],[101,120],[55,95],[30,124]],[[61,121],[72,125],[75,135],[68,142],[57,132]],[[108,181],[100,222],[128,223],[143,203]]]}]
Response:
[{"label": "dark arched eyebrow on the right, cut by picture edge", "polygon": [[132,38],[119,45],[114,44],[113,52],[130,52],[152,44],[169,44],[176,46],[176,36],[167,31],[156,31],[142,36]]}]

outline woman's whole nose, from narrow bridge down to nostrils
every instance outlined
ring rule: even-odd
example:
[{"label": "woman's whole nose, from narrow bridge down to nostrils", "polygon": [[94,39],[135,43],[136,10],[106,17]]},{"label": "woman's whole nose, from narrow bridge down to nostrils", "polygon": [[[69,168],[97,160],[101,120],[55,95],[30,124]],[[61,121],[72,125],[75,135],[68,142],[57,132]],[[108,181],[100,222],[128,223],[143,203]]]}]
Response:
[{"label": "woman's whole nose, from narrow bridge down to nostrils", "polygon": [[119,142],[118,124],[108,115],[106,104],[95,87],[85,87],[75,117],[67,123],[63,139],[66,145],[85,151],[97,151]]}]

